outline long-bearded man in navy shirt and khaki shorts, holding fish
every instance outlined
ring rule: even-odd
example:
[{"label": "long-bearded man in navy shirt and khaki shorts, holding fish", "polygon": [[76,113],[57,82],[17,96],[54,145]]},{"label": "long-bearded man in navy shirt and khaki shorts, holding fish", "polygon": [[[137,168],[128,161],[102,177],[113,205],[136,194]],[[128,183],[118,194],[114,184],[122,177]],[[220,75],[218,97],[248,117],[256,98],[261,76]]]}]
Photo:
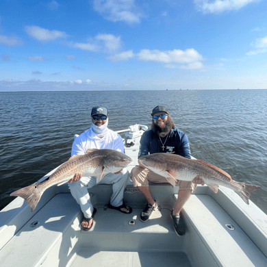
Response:
[{"label": "long-bearded man in navy shirt and khaki shorts, holding fish", "polygon": [[[166,107],[157,106],[153,109],[152,113],[151,130],[144,132],[140,140],[140,150],[138,158],[153,153],[171,153],[181,155],[183,157],[191,158],[190,147],[186,133],[175,128],[173,119]],[[175,186],[173,179],[162,177],[153,173],[153,171],[136,166],[131,170],[131,179],[133,186],[137,186],[140,192],[146,197],[147,207],[140,214],[140,220],[146,222],[149,217],[157,209],[157,202],[153,199],[149,190],[149,181],[155,183],[171,183]],[[192,181],[178,181],[179,186],[178,199],[175,208],[171,212],[171,217],[175,226],[175,232],[178,236],[183,236],[186,233],[186,227],[183,225],[183,220],[180,220],[180,212],[183,205],[188,201],[196,184],[204,184],[200,178]]]}]

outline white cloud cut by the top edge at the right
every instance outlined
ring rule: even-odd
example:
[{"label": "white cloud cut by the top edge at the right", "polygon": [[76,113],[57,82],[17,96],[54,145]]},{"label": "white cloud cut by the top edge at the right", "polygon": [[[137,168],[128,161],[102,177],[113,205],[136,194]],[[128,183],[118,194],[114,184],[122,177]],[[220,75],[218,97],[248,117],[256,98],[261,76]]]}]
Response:
[{"label": "white cloud cut by the top edge at the right", "polygon": [[239,10],[249,3],[259,0],[194,0],[196,8],[203,13],[219,13],[226,10]]}]

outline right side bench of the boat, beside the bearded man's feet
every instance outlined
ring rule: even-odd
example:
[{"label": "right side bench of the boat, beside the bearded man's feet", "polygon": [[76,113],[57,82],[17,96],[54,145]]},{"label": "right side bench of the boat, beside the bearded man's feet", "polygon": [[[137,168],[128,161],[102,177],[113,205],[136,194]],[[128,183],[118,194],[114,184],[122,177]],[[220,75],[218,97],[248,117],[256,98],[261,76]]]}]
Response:
[{"label": "right side bench of the boat, beside the bearded man's feet", "polygon": [[[267,259],[262,251],[212,196],[192,194],[183,212],[188,233],[199,236],[200,244],[207,247],[218,266],[266,266]],[[192,253],[199,257],[197,251]]]}]

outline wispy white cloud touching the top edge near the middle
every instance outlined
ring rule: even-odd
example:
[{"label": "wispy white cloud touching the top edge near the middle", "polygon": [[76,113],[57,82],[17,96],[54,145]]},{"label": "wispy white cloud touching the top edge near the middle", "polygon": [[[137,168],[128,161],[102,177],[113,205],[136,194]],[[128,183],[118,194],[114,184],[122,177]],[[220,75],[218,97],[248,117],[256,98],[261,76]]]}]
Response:
[{"label": "wispy white cloud touching the top edge near the middle", "polygon": [[108,21],[125,21],[129,24],[140,23],[140,18],[144,16],[134,0],[94,0],[94,10],[103,14]]}]

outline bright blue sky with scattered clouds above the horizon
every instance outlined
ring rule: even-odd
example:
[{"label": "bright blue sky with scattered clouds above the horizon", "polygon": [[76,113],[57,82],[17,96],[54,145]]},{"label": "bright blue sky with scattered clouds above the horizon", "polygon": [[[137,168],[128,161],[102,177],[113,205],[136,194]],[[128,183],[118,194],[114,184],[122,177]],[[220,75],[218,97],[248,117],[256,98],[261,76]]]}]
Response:
[{"label": "bright blue sky with scattered clouds above the horizon", "polygon": [[264,0],[1,0],[0,92],[267,88]]}]

